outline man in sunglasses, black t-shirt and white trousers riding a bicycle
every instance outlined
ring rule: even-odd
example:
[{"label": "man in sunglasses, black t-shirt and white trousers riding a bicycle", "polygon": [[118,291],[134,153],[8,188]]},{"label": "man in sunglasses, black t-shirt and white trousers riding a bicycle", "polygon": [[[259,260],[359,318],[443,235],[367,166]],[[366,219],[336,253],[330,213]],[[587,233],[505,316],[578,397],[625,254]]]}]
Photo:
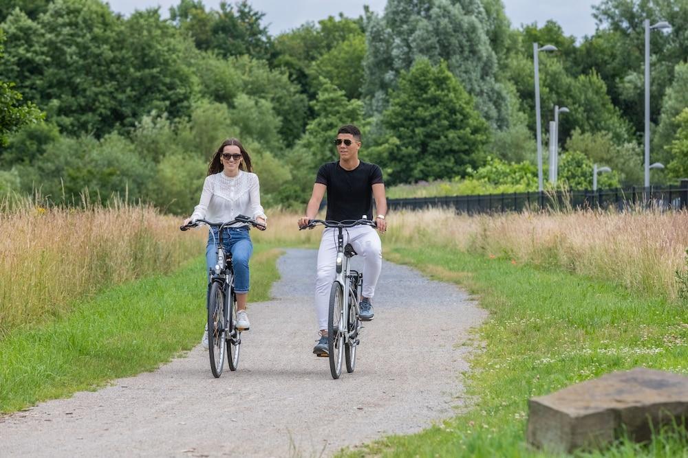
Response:
[{"label": "man in sunglasses, black t-shirt and white trousers riding a bicycle", "polygon": [[[372,216],[372,200],[375,198],[378,231],[385,232],[387,222],[387,199],[383,172],[373,163],[358,159],[361,148],[361,130],[352,124],[342,126],[334,140],[339,160],[321,165],[313,185],[313,192],[306,207],[305,216],[299,218],[299,227],[308,225],[316,217],[320,204],[327,192],[328,221],[358,220],[365,215]],[[318,250],[318,273],[315,285],[315,307],[320,330],[320,340],[313,349],[316,355],[327,356],[327,312],[330,301],[330,286],[336,271],[336,237],[334,229],[325,229]],[[349,240],[356,253],[363,257],[363,297],[361,298],[361,320],[374,317],[371,299],[380,277],[382,267],[382,244],[380,236],[370,226],[361,225],[347,229]]]}]

